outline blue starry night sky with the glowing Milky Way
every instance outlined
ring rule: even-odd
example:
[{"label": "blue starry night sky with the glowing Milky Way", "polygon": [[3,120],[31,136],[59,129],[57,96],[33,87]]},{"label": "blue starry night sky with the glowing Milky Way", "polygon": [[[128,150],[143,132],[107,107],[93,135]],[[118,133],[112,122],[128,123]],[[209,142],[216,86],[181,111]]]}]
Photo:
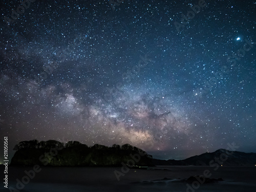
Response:
[{"label": "blue starry night sky with the glowing Milky Way", "polygon": [[[193,11],[194,10],[194,11]],[[256,1],[1,1],[0,135],[256,152]]]}]

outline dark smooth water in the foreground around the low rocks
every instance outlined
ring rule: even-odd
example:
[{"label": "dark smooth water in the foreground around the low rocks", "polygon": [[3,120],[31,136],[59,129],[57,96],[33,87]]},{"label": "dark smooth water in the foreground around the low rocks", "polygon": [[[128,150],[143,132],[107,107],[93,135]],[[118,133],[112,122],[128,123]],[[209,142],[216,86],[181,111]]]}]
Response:
[{"label": "dark smooth water in the foreground around the low rocks", "polygon": [[[24,171],[31,169],[10,166],[9,187],[16,188],[16,179],[22,180],[26,176]],[[203,175],[205,169],[209,170],[210,178],[224,181],[203,183],[197,189],[188,189],[186,182],[179,181]],[[115,170],[121,172],[121,167],[41,167],[40,172],[19,191],[256,191],[256,166],[223,166],[217,170],[207,166],[157,166],[150,170],[130,169],[120,181],[114,174]],[[0,191],[10,191],[3,185]]]}]

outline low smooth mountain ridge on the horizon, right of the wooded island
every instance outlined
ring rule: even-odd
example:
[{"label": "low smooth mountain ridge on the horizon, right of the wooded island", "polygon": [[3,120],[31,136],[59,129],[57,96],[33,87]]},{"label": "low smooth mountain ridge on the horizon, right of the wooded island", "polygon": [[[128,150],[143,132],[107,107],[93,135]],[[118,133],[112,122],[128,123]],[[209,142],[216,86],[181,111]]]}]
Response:
[{"label": "low smooth mountain ridge on the horizon, right of the wooded island", "polygon": [[204,153],[189,157],[184,160],[152,160],[154,165],[204,165],[215,166],[216,163],[225,166],[256,165],[256,153],[244,153],[238,151],[228,151],[224,149],[213,153]]}]

